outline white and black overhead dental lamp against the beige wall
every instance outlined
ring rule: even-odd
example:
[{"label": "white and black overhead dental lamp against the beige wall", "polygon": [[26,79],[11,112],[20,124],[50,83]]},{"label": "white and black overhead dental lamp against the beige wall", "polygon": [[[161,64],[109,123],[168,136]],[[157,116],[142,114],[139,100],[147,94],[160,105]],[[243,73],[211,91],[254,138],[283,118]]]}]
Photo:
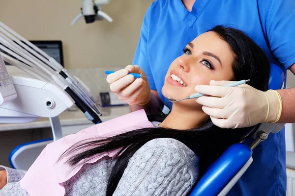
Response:
[{"label": "white and black overhead dental lamp against the beige wall", "polygon": [[110,3],[111,0],[82,0],[81,13],[72,21],[71,25],[75,25],[79,19],[84,17],[87,24],[94,21],[100,21],[106,19],[110,23],[113,19],[102,11],[101,6]]}]

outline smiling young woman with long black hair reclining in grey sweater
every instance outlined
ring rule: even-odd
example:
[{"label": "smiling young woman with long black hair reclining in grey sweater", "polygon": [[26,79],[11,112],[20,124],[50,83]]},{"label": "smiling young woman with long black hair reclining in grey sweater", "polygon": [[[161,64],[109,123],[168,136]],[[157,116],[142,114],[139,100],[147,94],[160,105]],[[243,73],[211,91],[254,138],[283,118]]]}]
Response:
[{"label": "smiling young woman with long black hair reclining in grey sweater", "polygon": [[[250,79],[249,85],[266,91],[269,62],[264,51],[244,33],[216,26],[188,43],[163,79],[163,95],[174,99],[196,93],[196,85],[209,84],[210,80]],[[255,128],[216,127],[195,99],[174,103],[169,115],[148,115],[148,120],[153,126],[108,138],[99,137],[98,132],[96,138],[63,150],[58,162],[66,159],[65,164],[72,168],[83,165],[59,183],[64,195],[185,196],[218,156]],[[117,151],[112,158],[106,155],[94,163],[84,162],[113,150]],[[0,170],[0,196],[29,196],[19,182],[25,171]],[[42,170],[50,168],[44,166]]]}]

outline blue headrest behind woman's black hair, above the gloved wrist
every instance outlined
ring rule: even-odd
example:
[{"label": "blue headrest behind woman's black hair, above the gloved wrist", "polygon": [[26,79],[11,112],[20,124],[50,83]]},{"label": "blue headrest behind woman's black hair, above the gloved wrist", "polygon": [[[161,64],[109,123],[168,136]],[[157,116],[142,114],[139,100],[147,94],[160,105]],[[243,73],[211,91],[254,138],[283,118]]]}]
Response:
[{"label": "blue headrest behind woman's black hair, above the gloved wrist", "polygon": [[268,89],[272,90],[278,90],[282,88],[282,85],[284,83],[285,79],[285,73],[283,70],[275,65],[275,64],[270,64],[270,76],[269,76],[269,81],[268,81]]}]

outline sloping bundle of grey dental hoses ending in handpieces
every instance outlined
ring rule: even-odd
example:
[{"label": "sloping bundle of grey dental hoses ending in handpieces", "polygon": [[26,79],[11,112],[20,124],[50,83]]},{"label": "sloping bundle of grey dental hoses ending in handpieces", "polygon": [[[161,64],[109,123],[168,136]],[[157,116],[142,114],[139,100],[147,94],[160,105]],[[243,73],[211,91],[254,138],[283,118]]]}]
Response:
[{"label": "sloping bundle of grey dental hoses ending in handpieces", "polygon": [[[89,121],[100,123],[97,100],[54,58],[0,22],[0,49],[4,60],[42,81],[53,81],[65,91]],[[9,55],[8,55],[9,54]]]}]

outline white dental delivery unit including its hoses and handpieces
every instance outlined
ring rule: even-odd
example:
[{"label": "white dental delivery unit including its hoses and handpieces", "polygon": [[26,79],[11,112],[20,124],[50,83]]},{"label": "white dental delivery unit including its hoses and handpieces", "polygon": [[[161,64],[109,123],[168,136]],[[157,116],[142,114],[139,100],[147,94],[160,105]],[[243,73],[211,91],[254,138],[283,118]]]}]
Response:
[{"label": "white dental delivery unit including its hoses and handpieces", "polygon": [[[0,119],[2,119],[0,123],[27,123],[38,117],[56,117],[74,103],[89,121],[95,124],[101,123],[99,118],[101,113],[96,106],[97,100],[90,94],[87,90],[88,88],[80,80],[72,77],[54,58],[1,22],[0,49],[3,51],[0,54],[4,61],[31,75],[30,78],[27,76],[12,76],[9,78],[4,63],[0,59],[0,71],[3,70],[0,78],[6,77],[4,81],[1,79],[3,83],[1,83],[1,86],[6,83],[4,88],[9,89],[9,92],[6,91],[5,93],[2,90],[1,99],[7,102],[14,98],[13,101],[0,106]],[[13,91],[13,85],[15,85],[15,91]],[[38,110],[42,111],[43,103],[38,105],[38,100],[35,102],[31,100],[41,100],[41,97],[48,93],[40,89],[50,91],[53,94],[48,95],[48,100],[54,97],[60,99],[63,104],[59,103],[59,101],[49,100],[45,102],[45,107],[51,109],[52,112],[48,112],[49,110],[38,112]],[[18,98],[16,98],[16,94]],[[35,95],[36,97],[33,98],[31,95]],[[4,109],[5,112],[1,112]],[[16,120],[16,117],[18,120]],[[24,120],[21,117],[29,119]],[[10,120],[7,120],[7,118],[10,118]]]}]

